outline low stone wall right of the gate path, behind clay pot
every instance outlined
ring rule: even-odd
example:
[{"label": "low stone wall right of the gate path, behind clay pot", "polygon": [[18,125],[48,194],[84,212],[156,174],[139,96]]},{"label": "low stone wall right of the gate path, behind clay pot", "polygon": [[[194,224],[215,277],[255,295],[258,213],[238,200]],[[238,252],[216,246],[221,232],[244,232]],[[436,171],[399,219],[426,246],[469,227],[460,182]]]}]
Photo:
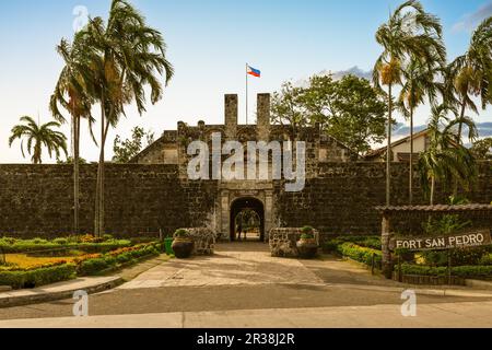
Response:
[{"label": "low stone wall right of the gate path, behind clay pot", "polygon": [[[319,245],[319,232],[313,231]],[[284,228],[270,230],[270,252],[272,257],[296,258],[298,257],[297,241],[302,236],[301,228]]]}]

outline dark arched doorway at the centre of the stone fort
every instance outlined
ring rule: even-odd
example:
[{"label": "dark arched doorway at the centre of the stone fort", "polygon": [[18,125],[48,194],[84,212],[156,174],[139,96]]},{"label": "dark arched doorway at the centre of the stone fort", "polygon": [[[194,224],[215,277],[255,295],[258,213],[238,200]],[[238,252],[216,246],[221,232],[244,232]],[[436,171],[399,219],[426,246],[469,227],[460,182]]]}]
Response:
[{"label": "dark arched doorway at the centre of the stone fort", "polygon": [[[259,233],[259,242],[265,241],[265,207],[263,203],[256,198],[253,197],[245,197],[245,198],[238,198],[234,200],[231,205],[231,241],[236,241],[236,223],[246,218],[245,228],[250,229],[254,226],[257,226],[255,229],[258,230]],[[250,234],[248,235],[249,240],[255,238],[258,240],[258,235],[254,235],[253,237]]]}]

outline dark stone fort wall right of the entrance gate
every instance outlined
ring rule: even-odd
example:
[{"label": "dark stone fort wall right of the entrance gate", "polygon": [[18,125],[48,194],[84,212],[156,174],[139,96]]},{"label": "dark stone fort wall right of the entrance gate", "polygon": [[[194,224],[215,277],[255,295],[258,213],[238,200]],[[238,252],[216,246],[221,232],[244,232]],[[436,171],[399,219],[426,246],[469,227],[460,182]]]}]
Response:
[{"label": "dark stone fort wall right of the entrance gate", "polygon": [[[321,234],[380,234],[382,218],[374,210],[386,202],[386,164],[330,163],[320,164],[316,177],[307,179],[302,192],[284,192],[281,183],[276,184],[274,201],[280,224],[285,228],[312,225]],[[408,205],[408,164],[391,165],[391,205]],[[479,163],[479,178],[470,192],[462,194],[478,203],[492,201],[492,162]],[[437,186],[436,203],[446,203],[450,195],[447,188]],[[429,205],[419,182],[414,182],[414,205]],[[425,218],[399,218],[395,220],[395,232],[420,234]],[[410,220],[409,220],[410,219]],[[417,220],[415,220],[417,219]],[[473,219],[478,226],[492,229],[492,217],[477,214]]]}]

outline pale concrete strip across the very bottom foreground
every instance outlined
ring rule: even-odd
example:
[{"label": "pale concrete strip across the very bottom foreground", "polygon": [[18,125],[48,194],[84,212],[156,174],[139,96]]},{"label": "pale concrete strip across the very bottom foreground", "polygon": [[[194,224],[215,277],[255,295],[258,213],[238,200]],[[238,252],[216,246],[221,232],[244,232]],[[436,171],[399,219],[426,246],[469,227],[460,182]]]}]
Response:
[{"label": "pale concrete strip across the very bottom foreground", "polygon": [[490,328],[492,302],[417,306],[403,317],[400,305],[239,310],[1,320],[0,328]]}]

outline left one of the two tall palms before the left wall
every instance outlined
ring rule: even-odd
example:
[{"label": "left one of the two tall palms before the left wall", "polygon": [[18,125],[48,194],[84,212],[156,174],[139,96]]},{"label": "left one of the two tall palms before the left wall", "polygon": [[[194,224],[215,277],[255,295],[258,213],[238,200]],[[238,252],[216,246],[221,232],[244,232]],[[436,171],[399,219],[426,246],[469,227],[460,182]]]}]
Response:
[{"label": "left one of the two tall palms before the left wall", "polygon": [[[91,107],[94,100],[87,93],[92,86],[89,67],[89,50],[84,45],[82,33],[75,34],[73,44],[70,45],[62,39],[57,46],[58,54],[65,61],[65,67],[58,78],[55,92],[50,98],[50,109],[55,119],[65,122],[66,118],[60,113],[60,104],[71,115],[71,140],[73,160],[73,233],[79,233],[79,211],[80,211],[80,125],[81,118],[89,120],[92,135],[92,124],[94,118],[91,115]],[[68,97],[68,98],[67,98]]]}]

